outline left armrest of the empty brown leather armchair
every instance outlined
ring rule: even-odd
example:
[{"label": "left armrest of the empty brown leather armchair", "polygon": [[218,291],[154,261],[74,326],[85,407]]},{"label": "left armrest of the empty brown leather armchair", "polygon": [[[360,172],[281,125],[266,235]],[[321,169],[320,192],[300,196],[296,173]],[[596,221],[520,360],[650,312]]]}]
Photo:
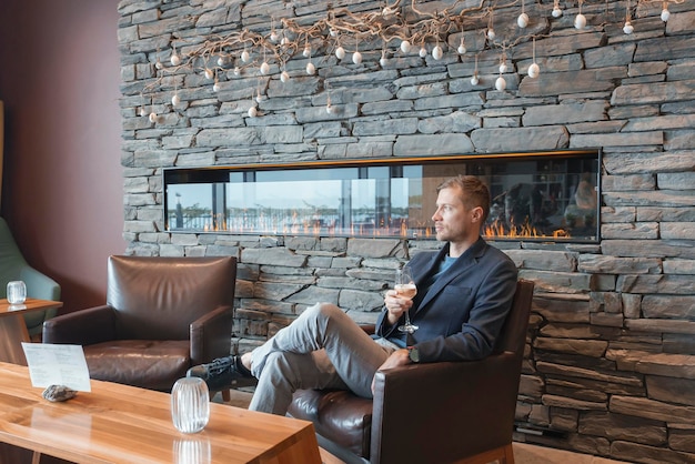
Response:
[{"label": "left armrest of the empty brown leather armchair", "polygon": [[92,345],[115,340],[115,312],[102,305],[62,314],[43,323],[43,343]]}]

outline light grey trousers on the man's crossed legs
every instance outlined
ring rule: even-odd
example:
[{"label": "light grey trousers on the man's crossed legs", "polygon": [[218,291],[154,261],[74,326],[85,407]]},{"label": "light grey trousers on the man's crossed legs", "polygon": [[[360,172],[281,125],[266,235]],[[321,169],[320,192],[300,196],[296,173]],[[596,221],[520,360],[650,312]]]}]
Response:
[{"label": "light grey trousers on the man's crossed legs", "polygon": [[340,307],[319,303],[252,352],[259,380],[249,408],[285,415],[304,389],[351,390],[372,397],[372,379],[395,350],[377,343]]}]

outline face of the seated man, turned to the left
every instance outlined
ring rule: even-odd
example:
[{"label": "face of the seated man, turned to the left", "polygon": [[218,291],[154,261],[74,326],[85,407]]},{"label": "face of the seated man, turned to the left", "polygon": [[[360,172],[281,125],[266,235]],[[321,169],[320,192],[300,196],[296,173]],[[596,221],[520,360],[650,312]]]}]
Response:
[{"label": "face of the seated man, turned to the left", "polygon": [[461,189],[452,186],[440,190],[436,198],[436,211],[432,215],[436,230],[436,239],[447,242],[462,242],[477,236],[480,223],[480,208],[466,210],[461,201]]}]

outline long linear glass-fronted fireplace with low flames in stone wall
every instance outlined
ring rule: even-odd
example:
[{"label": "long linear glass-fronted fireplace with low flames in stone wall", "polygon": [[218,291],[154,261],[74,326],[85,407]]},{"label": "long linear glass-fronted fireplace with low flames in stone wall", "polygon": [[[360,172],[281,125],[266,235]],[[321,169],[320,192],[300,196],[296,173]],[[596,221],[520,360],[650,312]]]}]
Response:
[{"label": "long linear glass-fronted fireplace with low flames in stone wall", "polygon": [[165,169],[170,232],[434,236],[436,185],[481,176],[495,240],[596,242],[598,150]]}]

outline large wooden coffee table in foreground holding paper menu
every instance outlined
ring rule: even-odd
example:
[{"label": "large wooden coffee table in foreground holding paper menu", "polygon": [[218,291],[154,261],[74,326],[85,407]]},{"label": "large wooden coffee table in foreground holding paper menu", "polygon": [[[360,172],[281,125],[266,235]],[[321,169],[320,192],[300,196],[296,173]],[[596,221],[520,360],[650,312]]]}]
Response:
[{"label": "large wooden coffee table in foreground holding paper menu", "polygon": [[[0,363],[0,441],[75,463],[319,464],[310,422],[210,404],[210,422],[183,434],[171,422],[170,395],[91,381],[63,403],[31,386],[29,369]],[[0,454],[0,462],[3,456]],[[14,462],[14,461],[12,461]]]}]

